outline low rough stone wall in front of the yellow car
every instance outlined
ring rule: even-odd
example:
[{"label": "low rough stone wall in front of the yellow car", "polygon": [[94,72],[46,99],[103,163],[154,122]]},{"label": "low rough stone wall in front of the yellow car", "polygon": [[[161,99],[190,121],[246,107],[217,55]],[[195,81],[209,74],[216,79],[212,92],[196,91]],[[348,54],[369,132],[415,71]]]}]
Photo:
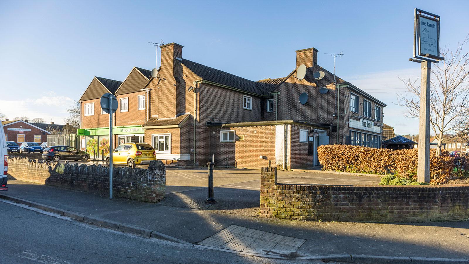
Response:
[{"label": "low rough stone wall in front of the yellow car", "polygon": [[[9,176],[23,181],[109,195],[109,168],[101,165],[48,163],[8,157]],[[161,161],[146,169],[113,168],[113,196],[159,202],[166,193],[166,170]]]}]

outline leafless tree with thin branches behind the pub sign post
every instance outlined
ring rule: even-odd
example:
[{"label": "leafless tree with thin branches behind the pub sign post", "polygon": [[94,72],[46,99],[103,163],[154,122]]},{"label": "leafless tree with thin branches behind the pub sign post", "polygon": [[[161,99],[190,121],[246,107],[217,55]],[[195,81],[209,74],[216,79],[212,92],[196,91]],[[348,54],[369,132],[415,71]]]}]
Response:
[{"label": "leafless tree with thin branches behind the pub sign post", "polygon": [[[436,155],[441,153],[441,144],[448,136],[445,133],[454,129],[456,119],[466,112],[469,105],[469,52],[463,51],[468,36],[458,44],[456,50],[449,47],[441,50],[444,61],[433,63],[431,73],[430,123],[438,140]],[[420,82],[418,78],[401,79],[408,92],[397,95],[397,105],[407,108],[407,117],[419,118]]]}]

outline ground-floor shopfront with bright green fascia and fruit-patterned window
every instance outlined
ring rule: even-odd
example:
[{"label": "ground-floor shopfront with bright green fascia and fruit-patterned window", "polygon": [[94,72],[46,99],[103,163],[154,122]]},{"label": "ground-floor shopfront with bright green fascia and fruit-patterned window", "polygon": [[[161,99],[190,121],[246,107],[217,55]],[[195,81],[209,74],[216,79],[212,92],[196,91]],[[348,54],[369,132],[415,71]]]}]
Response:
[{"label": "ground-floor shopfront with bright green fascia and fruit-patterned window", "polygon": [[[81,136],[81,149],[93,158],[101,158],[109,153],[109,127],[97,127],[78,129],[77,134]],[[145,132],[141,125],[127,125],[113,127],[114,148],[123,143],[145,142]]]}]

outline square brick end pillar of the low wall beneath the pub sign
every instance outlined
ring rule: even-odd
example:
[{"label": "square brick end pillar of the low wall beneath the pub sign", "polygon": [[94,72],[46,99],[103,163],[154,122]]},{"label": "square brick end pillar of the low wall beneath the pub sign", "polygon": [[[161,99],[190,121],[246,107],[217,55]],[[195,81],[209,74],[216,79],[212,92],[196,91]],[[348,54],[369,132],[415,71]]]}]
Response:
[{"label": "square brick end pillar of the low wall beneath the pub sign", "polygon": [[261,169],[261,196],[260,217],[274,217],[269,207],[270,194],[275,190],[277,183],[277,167],[262,167]]}]

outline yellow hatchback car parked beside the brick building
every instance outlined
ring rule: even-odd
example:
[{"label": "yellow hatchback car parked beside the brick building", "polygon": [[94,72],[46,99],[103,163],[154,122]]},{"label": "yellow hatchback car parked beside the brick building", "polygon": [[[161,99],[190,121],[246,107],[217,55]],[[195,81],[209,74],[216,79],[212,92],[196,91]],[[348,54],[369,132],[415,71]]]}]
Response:
[{"label": "yellow hatchback car parked beside the brick building", "polygon": [[[149,164],[156,160],[155,150],[147,143],[124,143],[114,149],[113,164],[135,165]],[[109,166],[109,154],[106,155],[106,165]]]}]

